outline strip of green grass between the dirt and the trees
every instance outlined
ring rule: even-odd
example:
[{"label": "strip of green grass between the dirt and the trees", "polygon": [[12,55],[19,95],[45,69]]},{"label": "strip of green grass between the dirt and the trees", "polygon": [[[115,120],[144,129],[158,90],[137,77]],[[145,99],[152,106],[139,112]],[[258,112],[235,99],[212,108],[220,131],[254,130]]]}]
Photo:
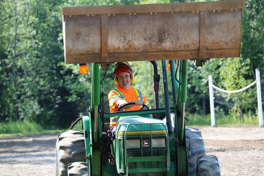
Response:
[{"label": "strip of green grass between the dirt and the trees", "polygon": [[[189,121],[185,121],[186,126],[211,126],[210,114],[206,117],[199,114],[186,114]],[[216,126],[245,126],[245,125],[258,125],[258,117],[244,114],[244,123],[240,123],[239,118],[231,115],[223,116],[215,119]],[[69,130],[66,129],[43,129],[39,124],[28,121],[18,121],[0,124],[0,137],[3,136],[17,136],[29,134],[48,134],[48,133],[62,133]],[[79,121],[74,129],[81,130],[82,123]]]}]

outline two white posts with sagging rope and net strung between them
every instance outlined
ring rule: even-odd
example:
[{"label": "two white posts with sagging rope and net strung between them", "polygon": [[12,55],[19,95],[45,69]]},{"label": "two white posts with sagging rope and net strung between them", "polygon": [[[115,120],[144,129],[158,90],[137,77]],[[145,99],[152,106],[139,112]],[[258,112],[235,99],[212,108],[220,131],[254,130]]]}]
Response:
[{"label": "two white posts with sagging rope and net strung between them", "polygon": [[[215,109],[218,116],[226,116],[227,113],[231,117],[239,116],[240,122],[244,118],[243,114],[248,113],[248,116],[255,117],[258,114],[259,126],[263,126],[262,100],[260,88],[260,73],[256,69],[256,80],[248,86],[239,90],[224,90],[216,87],[212,81],[212,75],[208,77],[209,83],[209,97],[210,97],[210,112],[211,112],[211,126],[215,126]],[[255,85],[253,87],[253,85]],[[252,88],[251,88],[252,87]],[[257,102],[255,106],[253,103]],[[214,103],[218,106],[215,108]],[[232,106],[232,107],[231,107]],[[253,113],[253,114],[252,114]],[[253,116],[252,116],[253,115]]]}]

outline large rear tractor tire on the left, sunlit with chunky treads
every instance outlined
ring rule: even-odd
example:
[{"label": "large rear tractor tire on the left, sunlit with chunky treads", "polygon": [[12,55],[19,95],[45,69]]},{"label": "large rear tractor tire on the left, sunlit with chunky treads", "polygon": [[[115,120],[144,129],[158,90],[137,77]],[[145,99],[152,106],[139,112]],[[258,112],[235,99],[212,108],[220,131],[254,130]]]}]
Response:
[{"label": "large rear tractor tire on the left, sunlit with chunky treads", "polygon": [[69,130],[58,135],[56,143],[56,175],[67,176],[68,164],[86,162],[84,134]]}]

